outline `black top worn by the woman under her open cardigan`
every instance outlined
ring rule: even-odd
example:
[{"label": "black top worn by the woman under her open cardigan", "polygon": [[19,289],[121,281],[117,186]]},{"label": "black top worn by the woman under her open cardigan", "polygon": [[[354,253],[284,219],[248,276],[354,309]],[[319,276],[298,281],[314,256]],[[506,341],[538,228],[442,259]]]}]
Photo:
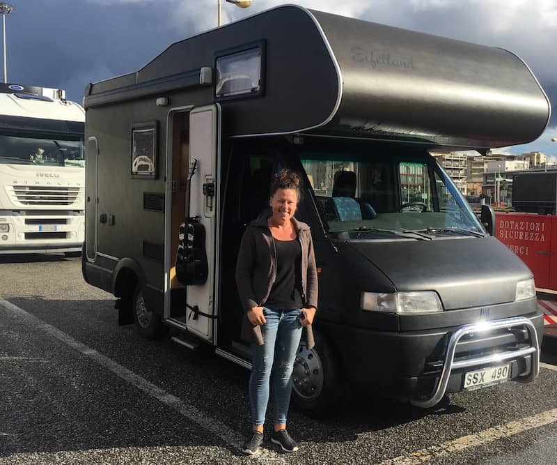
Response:
[{"label": "black top worn by the woman under her open cardigan", "polygon": [[265,307],[273,310],[295,310],[303,306],[301,283],[301,245],[297,239],[279,241],[273,238],[276,249],[276,281]]}]

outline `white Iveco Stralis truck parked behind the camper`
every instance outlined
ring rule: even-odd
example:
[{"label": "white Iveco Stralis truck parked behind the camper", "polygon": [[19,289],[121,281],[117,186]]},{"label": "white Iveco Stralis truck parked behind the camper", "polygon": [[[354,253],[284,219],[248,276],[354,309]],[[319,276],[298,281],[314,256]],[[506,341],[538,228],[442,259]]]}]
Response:
[{"label": "white Iveco Stralis truck parked behind the camper", "polygon": [[0,254],[79,254],[85,112],[65,91],[0,84]]}]

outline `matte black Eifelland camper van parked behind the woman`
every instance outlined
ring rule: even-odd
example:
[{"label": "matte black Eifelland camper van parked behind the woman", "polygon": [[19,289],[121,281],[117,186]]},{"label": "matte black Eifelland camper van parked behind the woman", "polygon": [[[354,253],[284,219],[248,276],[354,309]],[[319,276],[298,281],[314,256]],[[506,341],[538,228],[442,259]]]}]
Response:
[{"label": "matte black Eifelland camper van parked behind the woman", "polygon": [[121,324],[250,367],[237,252],[288,167],[319,276],[299,406],[363,386],[429,407],[538,375],[532,273],[430,155],[542,133],[549,100],[511,52],[281,6],[88,84],[84,106],[83,274]]}]

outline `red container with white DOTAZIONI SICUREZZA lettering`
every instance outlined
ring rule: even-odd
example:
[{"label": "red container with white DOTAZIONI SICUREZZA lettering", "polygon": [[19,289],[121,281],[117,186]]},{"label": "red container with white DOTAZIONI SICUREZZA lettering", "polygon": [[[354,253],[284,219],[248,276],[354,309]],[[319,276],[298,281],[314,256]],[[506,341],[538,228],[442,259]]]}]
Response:
[{"label": "red container with white DOTAZIONI SICUREZZA lettering", "polygon": [[495,213],[496,237],[532,270],[535,287],[557,290],[557,216]]}]

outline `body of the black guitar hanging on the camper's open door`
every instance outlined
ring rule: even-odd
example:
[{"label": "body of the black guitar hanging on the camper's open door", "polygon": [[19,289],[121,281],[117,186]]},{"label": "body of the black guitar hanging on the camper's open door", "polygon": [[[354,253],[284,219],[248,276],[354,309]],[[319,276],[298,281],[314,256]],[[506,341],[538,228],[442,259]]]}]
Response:
[{"label": "body of the black guitar hanging on the camper's open door", "polygon": [[209,275],[205,251],[205,227],[197,218],[180,224],[180,243],[176,254],[176,277],[187,286],[205,284]]}]

